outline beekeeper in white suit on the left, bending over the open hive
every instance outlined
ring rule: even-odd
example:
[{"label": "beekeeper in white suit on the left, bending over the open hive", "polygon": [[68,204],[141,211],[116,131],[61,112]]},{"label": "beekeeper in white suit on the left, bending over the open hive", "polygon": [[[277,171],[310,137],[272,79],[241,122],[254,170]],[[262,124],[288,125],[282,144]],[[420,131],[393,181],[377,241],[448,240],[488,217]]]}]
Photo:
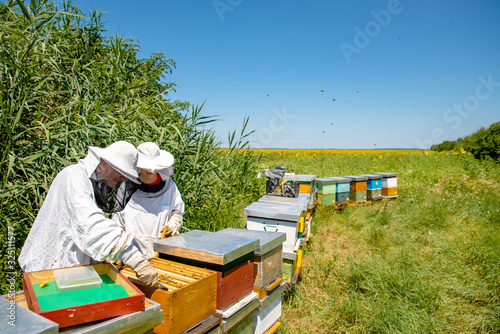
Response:
[{"label": "beekeeper in white suit on the left, bending over the open hive", "polygon": [[[90,147],[87,157],[64,168],[52,182],[28,234],[18,259],[21,269],[57,269],[109,258],[125,263],[142,282],[155,285],[158,272],[133,236],[104,213],[111,212],[106,205],[111,188],[127,179],[140,183],[137,158],[132,144],[119,141],[105,149]],[[118,207],[124,207],[126,200],[121,198]],[[117,209],[114,204],[112,209]]]}]

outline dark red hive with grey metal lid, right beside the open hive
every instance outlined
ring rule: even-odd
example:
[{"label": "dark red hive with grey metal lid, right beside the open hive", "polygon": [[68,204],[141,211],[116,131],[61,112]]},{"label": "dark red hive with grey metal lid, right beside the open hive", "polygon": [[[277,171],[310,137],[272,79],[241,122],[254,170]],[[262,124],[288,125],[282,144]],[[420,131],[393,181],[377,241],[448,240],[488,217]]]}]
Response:
[{"label": "dark red hive with grey metal lid, right beside the open hive", "polygon": [[[195,230],[157,240],[153,245],[162,259],[217,274],[213,293],[218,313],[222,314],[223,333],[237,326],[248,327],[248,323],[251,326],[252,312],[259,306],[258,294],[253,292],[254,251],[260,247],[258,239]],[[197,297],[186,296],[187,300],[190,298]],[[178,318],[184,319],[188,313],[179,314]]]}]

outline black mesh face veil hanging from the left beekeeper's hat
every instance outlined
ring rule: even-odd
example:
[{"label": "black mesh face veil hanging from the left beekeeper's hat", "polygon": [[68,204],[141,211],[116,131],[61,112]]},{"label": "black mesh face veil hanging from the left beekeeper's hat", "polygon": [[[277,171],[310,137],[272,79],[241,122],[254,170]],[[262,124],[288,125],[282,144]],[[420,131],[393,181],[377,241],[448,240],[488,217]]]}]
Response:
[{"label": "black mesh face veil hanging from the left beekeeper's hat", "polygon": [[104,182],[91,178],[94,188],[94,196],[97,206],[105,213],[122,211],[128,201],[138,189],[138,185],[129,180],[122,182],[120,186],[108,187]]}]

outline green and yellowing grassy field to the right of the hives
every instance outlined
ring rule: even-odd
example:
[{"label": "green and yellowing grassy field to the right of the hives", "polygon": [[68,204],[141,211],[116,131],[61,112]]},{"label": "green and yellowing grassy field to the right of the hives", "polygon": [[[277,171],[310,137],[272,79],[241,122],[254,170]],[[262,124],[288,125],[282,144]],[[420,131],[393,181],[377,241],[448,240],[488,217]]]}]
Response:
[{"label": "green and yellowing grassy field to the right of the hives", "polygon": [[396,200],[317,207],[279,333],[500,332],[500,167],[465,151],[261,150],[318,177],[396,172]]}]

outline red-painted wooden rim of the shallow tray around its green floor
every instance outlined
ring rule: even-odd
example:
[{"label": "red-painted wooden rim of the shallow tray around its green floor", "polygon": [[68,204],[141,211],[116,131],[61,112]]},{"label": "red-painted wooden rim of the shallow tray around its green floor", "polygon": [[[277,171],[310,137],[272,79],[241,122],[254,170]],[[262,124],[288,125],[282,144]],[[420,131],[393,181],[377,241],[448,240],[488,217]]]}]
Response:
[{"label": "red-painted wooden rim of the shallow tray around its green floor", "polygon": [[45,318],[59,324],[59,328],[83,324],[91,321],[107,319],[132,312],[144,310],[144,294],[137,289],[124,275],[119,273],[111,264],[101,263],[92,265],[99,275],[108,275],[116,284],[125,288],[129,297],[117,298],[87,305],[78,305],[70,308],[53,311],[42,311],[37,301],[33,284],[44,281],[54,281],[54,270],[43,270],[23,274],[23,290],[28,308]]}]

